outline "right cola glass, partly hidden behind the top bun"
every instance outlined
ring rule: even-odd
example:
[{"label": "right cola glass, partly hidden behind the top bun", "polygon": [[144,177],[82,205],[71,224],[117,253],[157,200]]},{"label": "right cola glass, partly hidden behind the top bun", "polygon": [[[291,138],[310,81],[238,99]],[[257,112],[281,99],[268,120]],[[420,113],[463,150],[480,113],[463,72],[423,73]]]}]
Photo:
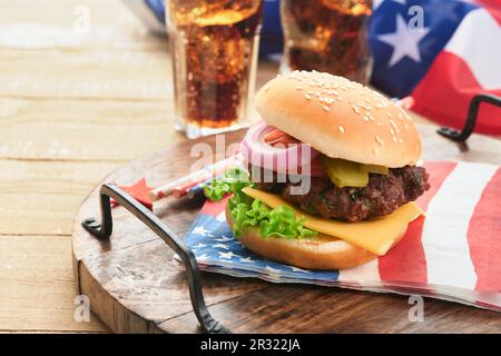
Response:
[{"label": "right cola glass, partly hidden behind the top bun", "polygon": [[282,71],[325,71],[367,83],[372,0],[282,0]]}]

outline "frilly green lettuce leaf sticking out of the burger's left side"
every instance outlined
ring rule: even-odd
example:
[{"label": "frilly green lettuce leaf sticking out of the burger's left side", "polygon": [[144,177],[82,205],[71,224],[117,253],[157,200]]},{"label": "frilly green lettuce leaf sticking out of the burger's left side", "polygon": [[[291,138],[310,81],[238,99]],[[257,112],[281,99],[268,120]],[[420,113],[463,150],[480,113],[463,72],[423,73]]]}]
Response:
[{"label": "frilly green lettuce leaf sticking out of the burger's left side", "polygon": [[242,236],[246,227],[258,228],[263,238],[303,238],[318,235],[305,228],[304,217],[297,219],[289,206],[284,204],[271,209],[258,199],[253,199],[242,191],[245,187],[254,186],[245,169],[232,168],[225,172],[224,177],[213,179],[204,187],[206,197],[213,201],[220,201],[227,194],[233,195],[228,205],[234,221],[232,230],[236,237]]}]

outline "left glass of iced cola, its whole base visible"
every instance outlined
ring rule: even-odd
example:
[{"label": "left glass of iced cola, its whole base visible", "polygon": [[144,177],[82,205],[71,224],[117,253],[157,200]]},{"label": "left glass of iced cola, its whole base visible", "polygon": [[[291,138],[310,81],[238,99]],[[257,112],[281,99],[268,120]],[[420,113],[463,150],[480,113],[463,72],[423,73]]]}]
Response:
[{"label": "left glass of iced cola, its whole base visible", "polygon": [[250,123],[263,0],[169,0],[176,129],[188,138]]}]

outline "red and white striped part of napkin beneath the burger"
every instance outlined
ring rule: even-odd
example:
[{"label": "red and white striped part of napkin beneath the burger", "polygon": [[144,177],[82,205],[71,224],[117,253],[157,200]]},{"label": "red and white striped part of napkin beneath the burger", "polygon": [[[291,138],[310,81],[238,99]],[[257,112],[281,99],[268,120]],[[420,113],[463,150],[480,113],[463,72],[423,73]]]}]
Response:
[{"label": "red and white striped part of napkin beneath the burger", "polygon": [[425,162],[432,188],[386,256],[340,271],[340,283],[384,290],[413,287],[501,309],[501,169],[469,162]]}]

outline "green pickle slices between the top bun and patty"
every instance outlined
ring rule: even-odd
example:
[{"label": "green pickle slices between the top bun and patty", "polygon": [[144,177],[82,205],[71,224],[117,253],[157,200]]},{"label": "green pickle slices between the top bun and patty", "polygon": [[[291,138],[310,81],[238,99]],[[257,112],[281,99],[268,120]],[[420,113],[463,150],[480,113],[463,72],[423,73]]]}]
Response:
[{"label": "green pickle slices between the top bun and patty", "polygon": [[384,166],[363,165],[340,158],[322,156],[322,165],[331,181],[340,188],[366,187],[369,174],[387,175]]}]

